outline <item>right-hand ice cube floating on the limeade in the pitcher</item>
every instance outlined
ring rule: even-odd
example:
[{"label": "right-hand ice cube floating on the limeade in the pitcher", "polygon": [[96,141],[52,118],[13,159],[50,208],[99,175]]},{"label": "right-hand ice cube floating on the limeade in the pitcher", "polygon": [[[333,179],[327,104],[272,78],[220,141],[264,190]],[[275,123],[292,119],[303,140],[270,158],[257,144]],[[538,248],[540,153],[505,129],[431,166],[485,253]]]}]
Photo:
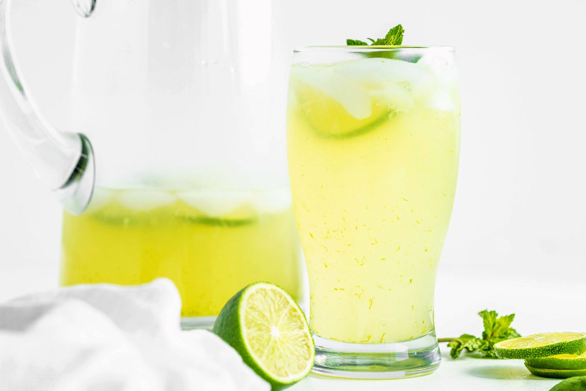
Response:
[{"label": "right-hand ice cube floating on the limeade in the pitcher", "polygon": [[253,191],[189,191],[177,196],[208,217],[223,217],[251,202]]}]

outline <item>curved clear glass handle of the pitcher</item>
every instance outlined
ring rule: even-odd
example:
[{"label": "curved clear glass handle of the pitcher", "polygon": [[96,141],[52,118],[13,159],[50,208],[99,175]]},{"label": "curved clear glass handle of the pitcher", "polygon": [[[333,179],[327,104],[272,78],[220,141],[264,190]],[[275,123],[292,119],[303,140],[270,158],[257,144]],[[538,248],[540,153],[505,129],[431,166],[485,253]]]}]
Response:
[{"label": "curved clear glass handle of the pitcher", "polygon": [[8,0],[0,0],[0,117],[36,176],[79,215],[94,189],[93,149],[83,134],[53,128],[28,96],[12,59],[8,9]]}]

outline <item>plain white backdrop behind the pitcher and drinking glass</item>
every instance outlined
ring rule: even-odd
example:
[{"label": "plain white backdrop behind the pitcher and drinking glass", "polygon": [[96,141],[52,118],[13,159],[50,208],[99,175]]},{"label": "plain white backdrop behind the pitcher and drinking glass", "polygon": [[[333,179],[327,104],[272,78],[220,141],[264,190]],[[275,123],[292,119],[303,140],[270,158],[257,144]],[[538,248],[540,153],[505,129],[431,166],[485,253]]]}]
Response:
[{"label": "plain white backdrop behind the pitcher and drinking glass", "polygon": [[[67,0],[15,3],[21,74],[43,114],[69,130],[76,15]],[[461,171],[440,273],[493,276],[495,288],[496,277],[583,281],[584,0],[287,3],[283,28],[296,45],[343,45],[402,23],[404,44],[456,47]],[[0,283],[16,294],[25,277],[15,267],[56,285],[61,212],[1,127]]]}]

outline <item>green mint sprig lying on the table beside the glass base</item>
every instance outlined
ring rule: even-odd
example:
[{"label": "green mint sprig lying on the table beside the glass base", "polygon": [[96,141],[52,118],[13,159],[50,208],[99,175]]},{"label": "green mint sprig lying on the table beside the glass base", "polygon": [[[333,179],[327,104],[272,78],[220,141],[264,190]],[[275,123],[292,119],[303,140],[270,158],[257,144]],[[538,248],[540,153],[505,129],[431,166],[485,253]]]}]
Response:
[{"label": "green mint sprig lying on the table beside the glass base", "polygon": [[515,314],[499,317],[496,311],[483,310],[478,312],[478,315],[482,317],[482,324],[484,325],[482,338],[471,334],[462,334],[459,338],[438,340],[440,342],[449,342],[448,346],[452,348],[449,355],[452,358],[458,358],[464,349],[468,352],[478,351],[487,357],[496,358],[493,346],[497,342],[521,336],[514,328],[510,327],[513,319],[515,319]]}]

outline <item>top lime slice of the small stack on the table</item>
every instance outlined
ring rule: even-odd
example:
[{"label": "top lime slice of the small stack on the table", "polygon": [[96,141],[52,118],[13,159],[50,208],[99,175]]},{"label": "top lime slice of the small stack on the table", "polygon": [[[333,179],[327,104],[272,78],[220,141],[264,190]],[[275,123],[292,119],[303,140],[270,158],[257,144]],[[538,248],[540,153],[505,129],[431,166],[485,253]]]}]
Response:
[{"label": "top lime slice of the small stack on the table", "polygon": [[528,359],[560,354],[581,354],[586,350],[582,332],[546,332],[507,339],[495,344],[498,357]]}]

